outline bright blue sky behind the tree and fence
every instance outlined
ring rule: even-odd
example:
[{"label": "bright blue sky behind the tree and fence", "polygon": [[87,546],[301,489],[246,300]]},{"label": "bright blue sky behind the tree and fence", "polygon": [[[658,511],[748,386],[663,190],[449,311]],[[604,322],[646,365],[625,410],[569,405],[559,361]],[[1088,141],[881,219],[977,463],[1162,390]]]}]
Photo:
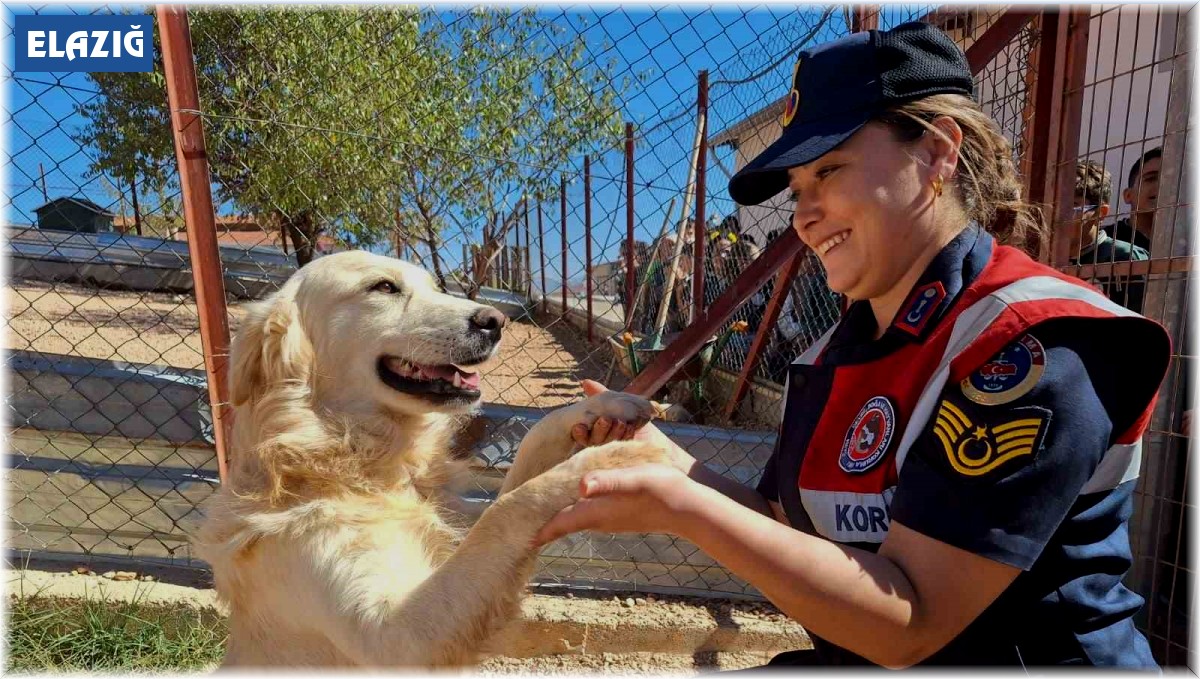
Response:
[{"label": "bright blue sky behind the tree and fence", "polygon": [[[821,6],[758,6],[678,10],[643,7],[546,7],[541,12],[582,36],[590,55],[599,60],[616,58],[618,76],[648,72],[644,85],[634,84],[620,100],[623,116],[635,122],[638,133],[649,130],[637,143],[635,169],[635,226],[637,238],[652,240],[659,232],[664,209],[677,197],[674,216],[683,199],[688,161],[696,132],[696,74],[709,71],[709,134],[737,122],[784,95],[791,76],[792,59],[799,41],[818,22]],[[11,35],[13,8],[5,7],[4,22]],[[16,7],[16,12],[24,13]],[[47,11],[83,13],[95,11],[83,6],[55,6]],[[888,14],[912,14],[916,10],[889,7]],[[582,16],[582,18],[580,18]],[[884,17],[884,25],[890,23]],[[846,32],[841,10],[836,10],[815,42]],[[605,43],[611,47],[605,48]],[[6,41],[11,46],[13,41]],[[89,150],[82,149],[71,134],[82,125],[72,113],[76,103],[94,97],[83,73],[12,73],[12,47],[4,59],[11,77],[5,89],[11,118],[6,125],[10,157],[6,158],[5,220],[11,223],[35,221],[32,209],[42,203],[38,163],[46,170],[52,198],[61,194],[83,196],[101,205],[115,205],[104,182],[85,179]],[[734,84],[733,82],[742,83]],[[720,162],[733,169],[731,152],[718,154]],[[612,259],[625,233],[624,158],[608,152],[593,163],[593,258]],[[569,275],[582,271],[583,258],[583,182],[582,158],[572,168],[563,168],[575,181],[568,190]],[[715,163],[708,166],[706,214],[722,216],[733,210],[726,196],[726,175]],[[152,203],[149,197],[143,203]],[[151,205],[152,208],[152,205]],[[227,211],[227,208],[218,211]],[[557,197],[544,205],[547,254],[547,278],[556,280],[560,252],[559,206]],[[536,226],[532,224],[533,230]],[[478,230],[472,234],[478,239]],[[523,238],[522,238],[523,240]],[[452,240],[444,256],[451,265],[461,259],[462,239]],[[536,247],[533,253],[538,264]]]}]

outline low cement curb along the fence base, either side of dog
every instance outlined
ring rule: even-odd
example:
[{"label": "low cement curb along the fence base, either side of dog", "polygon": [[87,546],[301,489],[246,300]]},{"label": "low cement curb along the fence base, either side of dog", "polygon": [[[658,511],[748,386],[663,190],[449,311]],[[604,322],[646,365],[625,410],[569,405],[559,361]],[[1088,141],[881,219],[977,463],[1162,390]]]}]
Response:
[{"label": "low cement curb along the fence base, either side of dog", "polygon": [[[224,615],[216,591],[163,582],[116,582],[97,576],[6,569],[5,585],[10,597],[102,597],[151,607],[186,606],[202,615]],[[505,657],[605,653],[775,654],[804,648],[811,648],[811,642],[800,625],[768,620],[739,611],[737,606],[647,602],[626,607],[612,599],[546,594],[527,596],[521,619],[494,641],[498,655]]]}]

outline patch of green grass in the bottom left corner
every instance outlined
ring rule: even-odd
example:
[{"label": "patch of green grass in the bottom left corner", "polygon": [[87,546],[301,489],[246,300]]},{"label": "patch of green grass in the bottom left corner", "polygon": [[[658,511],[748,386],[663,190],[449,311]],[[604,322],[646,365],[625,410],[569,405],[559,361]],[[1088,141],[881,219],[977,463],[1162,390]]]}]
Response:
[{"label": "patch of green grass in the bottom left corner", "polygon": [[224,638],[223,620],[186,606],[12,596],[5,671],[208,671]]}]

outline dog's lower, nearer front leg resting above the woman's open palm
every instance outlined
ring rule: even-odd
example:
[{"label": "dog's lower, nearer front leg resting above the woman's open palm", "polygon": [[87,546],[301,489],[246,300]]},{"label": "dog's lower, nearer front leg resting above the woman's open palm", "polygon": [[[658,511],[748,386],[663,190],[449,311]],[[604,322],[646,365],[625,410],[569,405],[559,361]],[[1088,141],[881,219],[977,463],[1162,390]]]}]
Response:
[{"label": "dog's lower, nearer front leg resting above the woman's open palm", "polygon": [[[446,667],[478,661],[486,642],[516,619],[538,552],[532,542],[556,513],[578,499],[593,469],[668,463],[665,450],[642,441],[590,447],[502,497],[480,516],[455,553],[395,601],[362,600],[353,581],[334,595],[354,608],[359,629],[342,627],[338,647],[361,665]],[[361,583],[360,583],[361,584]],[[344,617],[342,618],[344,619]]]}]

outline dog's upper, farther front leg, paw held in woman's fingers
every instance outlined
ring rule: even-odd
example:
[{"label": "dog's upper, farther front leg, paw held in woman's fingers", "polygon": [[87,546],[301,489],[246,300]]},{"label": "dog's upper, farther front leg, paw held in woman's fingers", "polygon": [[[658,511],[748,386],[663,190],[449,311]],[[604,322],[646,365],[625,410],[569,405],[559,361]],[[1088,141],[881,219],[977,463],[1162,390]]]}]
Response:
[{"label": "dog's upper, farther front leg, paw held in woman's fingers", "polygon": [[620,391],[606,391],[548,413],[521,439],[499,494],[504,495],[570,457],[578,449],[571,438],[575,425],[584,423],[590,428],[600,417],[608,417],[641,427],[653,415],[654,405],[649,401]]}]

